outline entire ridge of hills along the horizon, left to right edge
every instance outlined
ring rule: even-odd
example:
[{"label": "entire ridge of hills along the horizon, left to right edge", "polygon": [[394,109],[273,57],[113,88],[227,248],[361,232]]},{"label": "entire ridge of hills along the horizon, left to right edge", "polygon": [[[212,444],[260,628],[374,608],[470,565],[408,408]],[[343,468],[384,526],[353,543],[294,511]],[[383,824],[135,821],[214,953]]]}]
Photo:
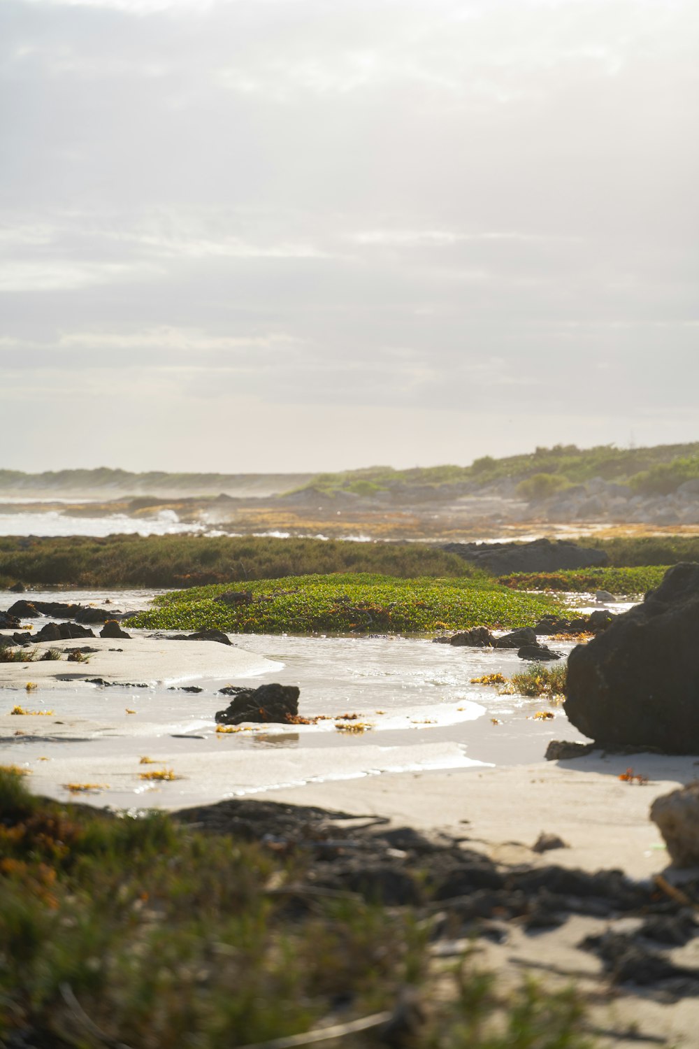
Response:
[{"label": "entire ridge of hills along the horizon, left to right edge", "polygon": [[394,470],[374,466],[338,473],[167,473],[101,467],[22,473],[0,470],[0,499],[37,494],[109,498],[119,495],[283,497],[304,502],[321,495],[401,502],[449,500],[481,491],[499,492],[525,501],[551,497],[593,479],[624,485],[629,494],[663,496],[699,478],[699,442],[615,448],[575,445],[537,448],[523,455],[475,459],[471,466],[443,465]]}]

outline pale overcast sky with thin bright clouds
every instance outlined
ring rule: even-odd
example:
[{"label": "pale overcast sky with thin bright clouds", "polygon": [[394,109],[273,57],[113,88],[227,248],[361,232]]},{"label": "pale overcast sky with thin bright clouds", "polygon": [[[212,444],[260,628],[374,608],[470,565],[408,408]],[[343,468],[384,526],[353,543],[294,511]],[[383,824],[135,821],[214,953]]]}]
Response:
[{"label": "pale overcast sky with thin bright clouds", "polygon": [[0,0],[0,468],[699,440],[696,0]]}]

